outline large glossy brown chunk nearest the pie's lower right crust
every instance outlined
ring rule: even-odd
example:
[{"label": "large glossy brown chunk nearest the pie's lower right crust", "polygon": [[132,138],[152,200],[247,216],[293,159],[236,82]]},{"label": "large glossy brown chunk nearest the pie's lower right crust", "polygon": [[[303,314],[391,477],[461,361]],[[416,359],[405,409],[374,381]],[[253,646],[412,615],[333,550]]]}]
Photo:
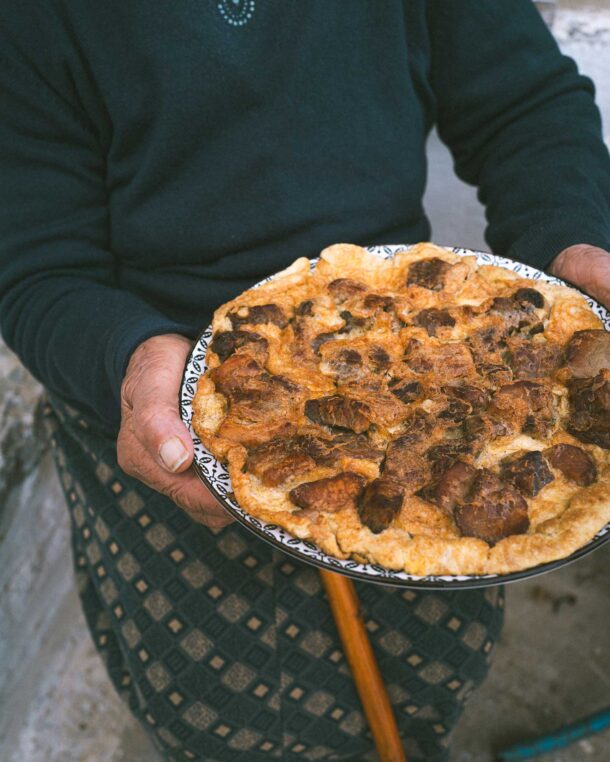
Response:
[{"label": "large glossy brown chunk nearest the pie's lower right crust", "polygon": [[478,537],[490,545],[529,528],[523,496],[487,468],[477,472],[467,500],[456,506],[454,518],[462,535]]}]

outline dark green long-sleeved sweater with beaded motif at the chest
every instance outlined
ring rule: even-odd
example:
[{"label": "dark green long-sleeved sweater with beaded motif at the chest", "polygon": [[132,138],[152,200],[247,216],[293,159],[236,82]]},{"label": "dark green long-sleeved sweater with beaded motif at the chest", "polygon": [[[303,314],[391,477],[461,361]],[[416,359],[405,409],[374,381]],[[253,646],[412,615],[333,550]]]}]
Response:
[{"label": "dark green long-sleeved sweater with beaded motif at the chest", "polygon": [[147,337],[327,244],[426,239],[435,123],[492,250],[610,245],[593,87],[530,0],[0,8],[3,334],[109,431]]}]

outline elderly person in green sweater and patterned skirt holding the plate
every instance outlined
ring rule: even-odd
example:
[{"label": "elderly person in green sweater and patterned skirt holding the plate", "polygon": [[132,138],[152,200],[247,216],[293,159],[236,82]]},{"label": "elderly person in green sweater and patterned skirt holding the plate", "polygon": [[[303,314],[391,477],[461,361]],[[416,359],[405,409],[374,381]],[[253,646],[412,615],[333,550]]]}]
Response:
[{"label": "elderly person in green sweater and patterned skirt holding the plate", "polygon": [[[110,677],[168,759],[371,759],[315,571],[228,524],[189,470],[183,363],[218,305],[296,257],[427,239],[433,125],[491,249],[610,303],[592,84],[529,0],[2,16],[0,318],[48,390]],[[446,760],[501,589],[358,588],[409,759]]]}]

